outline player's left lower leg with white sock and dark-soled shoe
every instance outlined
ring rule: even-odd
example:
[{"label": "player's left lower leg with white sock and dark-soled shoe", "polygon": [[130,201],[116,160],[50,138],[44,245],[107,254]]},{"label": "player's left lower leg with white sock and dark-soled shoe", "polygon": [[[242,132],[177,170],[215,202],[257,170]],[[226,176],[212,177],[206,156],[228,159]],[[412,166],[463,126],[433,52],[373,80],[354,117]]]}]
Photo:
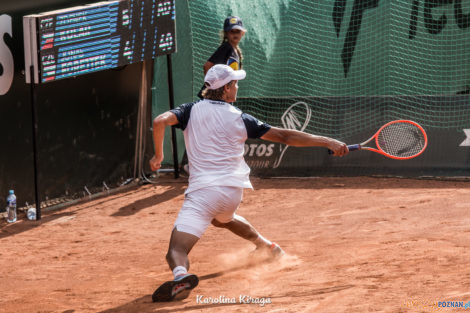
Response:
[{"label": "player's left lower leg with white sock and dark-soled shoe", "polygon": [[191,290],[197,286],[199,283],[198,277],[188,273],[188,254],[198,240],[197,236],[177,231],[176,228],[173,229],[166,260],[173,271],[174,280],[165,282],[155,290],[152,295],[154,302],[185,299],[189,296]]}]

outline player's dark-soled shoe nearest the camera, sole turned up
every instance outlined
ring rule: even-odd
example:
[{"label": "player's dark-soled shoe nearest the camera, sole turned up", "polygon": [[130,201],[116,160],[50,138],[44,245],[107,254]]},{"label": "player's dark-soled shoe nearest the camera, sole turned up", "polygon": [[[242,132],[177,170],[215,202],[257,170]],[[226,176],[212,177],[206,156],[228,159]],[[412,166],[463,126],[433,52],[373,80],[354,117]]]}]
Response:
[{"label": "player's dark-soled shoe nearest the camera, sole turned up", "polygon": [[152,300],[153,302],[169,302],[186,299],[198,283],[199,278],[194,274],[179,276],[158,287],[152,295]]}]

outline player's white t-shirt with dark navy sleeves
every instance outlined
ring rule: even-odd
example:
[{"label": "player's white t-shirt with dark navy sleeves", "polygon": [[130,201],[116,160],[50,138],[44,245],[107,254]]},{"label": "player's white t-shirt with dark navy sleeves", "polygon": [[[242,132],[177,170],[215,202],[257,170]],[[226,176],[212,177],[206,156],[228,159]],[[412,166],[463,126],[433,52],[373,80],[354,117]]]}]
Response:
[{"label": "player's white t-shirt with dark navy sleeves", "polygon": [[253,188],[243,158],[247,138],[271,126],[233,105],[214,100],[185,103],[171,110],[183,130],[189,165],[186,193],[209,186]]}]

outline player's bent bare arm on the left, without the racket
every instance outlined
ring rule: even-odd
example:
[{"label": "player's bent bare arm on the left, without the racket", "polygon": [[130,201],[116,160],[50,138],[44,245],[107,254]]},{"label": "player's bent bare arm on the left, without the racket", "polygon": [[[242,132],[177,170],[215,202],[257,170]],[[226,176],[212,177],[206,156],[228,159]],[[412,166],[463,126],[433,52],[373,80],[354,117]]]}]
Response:
[{"label": "player's bent bare arm on the left, without the racket", "polygon": [[165,137],[165,128],[178,124],[176,115],[170,111],[160,114],[153,120],[153,144],[155,155],[150,160],[152,171],[158,170],[163,161],[163,138]]}]

